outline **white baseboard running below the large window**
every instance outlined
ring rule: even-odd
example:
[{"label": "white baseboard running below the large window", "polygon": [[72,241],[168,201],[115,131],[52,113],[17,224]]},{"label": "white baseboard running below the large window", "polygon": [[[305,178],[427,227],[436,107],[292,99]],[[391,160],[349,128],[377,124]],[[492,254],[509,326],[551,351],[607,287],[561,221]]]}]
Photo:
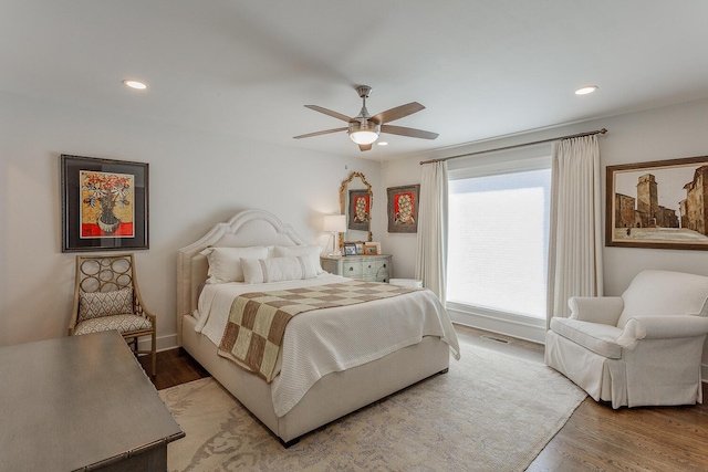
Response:
[{"label": "white baseboard running below the large window", "polygon": [[473,310],[456,303],[448,303],[446,308],[454,323],[513,336],[531,343],[545,343],[545,319],[503,313],[485,313],[481,310]]}]

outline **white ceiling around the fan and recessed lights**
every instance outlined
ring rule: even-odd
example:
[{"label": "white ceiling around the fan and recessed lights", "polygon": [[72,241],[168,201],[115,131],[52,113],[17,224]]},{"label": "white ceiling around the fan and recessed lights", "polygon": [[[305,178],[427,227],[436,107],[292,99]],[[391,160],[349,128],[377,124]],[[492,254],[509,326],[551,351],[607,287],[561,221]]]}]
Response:
[{"label": "white ceiling around the fan and recessed lights", "polygon": [[[317,151],[386,159],[708,97],[705,0],[0,0],[0,91]],[[121,84],[148,83],[145,92]],[[372,115],[436,140],[383,135]],[[595,84],[600,90],[576,96]]]}]

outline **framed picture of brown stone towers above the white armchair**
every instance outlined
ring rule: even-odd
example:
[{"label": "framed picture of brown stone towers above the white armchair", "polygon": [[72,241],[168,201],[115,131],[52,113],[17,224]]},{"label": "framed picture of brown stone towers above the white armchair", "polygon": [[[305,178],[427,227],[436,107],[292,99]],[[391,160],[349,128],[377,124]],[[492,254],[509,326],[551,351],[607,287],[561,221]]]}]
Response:
[{"label": "framed picture of brown stone towers above the white armchair", "polygon": [[708,250],[708,156],[607,166],[605,245]]}]

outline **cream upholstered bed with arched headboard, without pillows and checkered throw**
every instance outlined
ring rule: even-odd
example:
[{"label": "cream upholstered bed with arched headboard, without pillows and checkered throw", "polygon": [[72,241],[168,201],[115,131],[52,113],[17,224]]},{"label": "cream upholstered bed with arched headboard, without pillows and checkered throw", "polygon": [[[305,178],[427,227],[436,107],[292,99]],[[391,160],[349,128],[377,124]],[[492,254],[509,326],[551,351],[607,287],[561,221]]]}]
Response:
[{"label": "cream upholstered bed with arched headboard, without pillows and checkered throw", "polygon": [[[342,308],[316,310],[293,317],[284,333],[277,377],[269,382],[246,371],[218,354],[216,336],[225,322],[223,315],[218,314],[220,312],[217,307],[226,304],[223,302],[226,295],[221,292],[217,294],[214,284],[207,283],[208,280],[212,281],[214,279],[214,275],[209,274],[208,252],[214,248],[239,248],[237,251],[240,251],[243,248],[250,250],[256,247],[268,248],[269,258],[273,255],[274,248],[281,251],[291,251],[285,252],[287,254],[299,253],[299,251],[302,252],[301,250],[312,248],[290,224],[281,222],[274,214],[262,210],[241,211],[228,222],[216,224],[198,241],[179,250],[177,337],[178,344],[268,427],[283,445],[290,447],[296,443],[300,437],[316,428],[430,376],[446,373],[450,354],[459,358],[459,346],[455,331],[437,297],[427,290],[407,290],[410,293],[387,300],[376,300]],[[319,266],[319,259],[316,264]],[[303,283],[308,286],[319,286],[344,281],[351,282],[351,280],[344,280],[337,275],[317,273],[316,276],[306,281],[281,281],[274,284],[233,282],[222,285],[228,289],[227,291],[243,293],[246,291],[260,292],[263,287],[270,287],[269,290],[273,286],[275,289],[282,286],[300,287]],[[381,306],[375,306],[375,304]],[[343,317],[342,313],[337,311],[348,311],[348,316]],[[408,334],[400,335],[407,337],[396,339],[392,346],[376,348],[364,356],[361,353],[353,355],[356,360],[344,358],[343,361],[340,361],[339,354],[333,355],[336,357],[335,364],[339,363],[340,367],[310,368],[310,371],[305,373],[305,377],[310,376],[311,371],[322,370],[315,379],[309,377],[306,380],[302,380],[300,378],[302,373],[291,374],[294,367],[292,367],[293,363],[289,360],[291,357],[288,356],[289,353],[305,350],[302,349],[302,346],[293,348],[293,345],[296,345],[303,336],[310,336],[310,340],[302,343],[304,345],[309,343],[337,346],[340,343],[347,344],[345,338],[335,342],[327,340],[322,333],[336,331],[340,323],[350,323],[351,318],[373,316],[368,314],[369,312],[376,313],[375,317],[379,317],[381,323],[387,326],[374,329],[374,332],[388,329],[395,336],[399,336],[398,332],[407,332]],[[334,318],[331,318],[332,316]],[[419,326],[410,327],[409,325],[413,326],[414,323],[412,319],[416,317],[421,319]],[[378,318],[376,323],[379,323]],[[347,329],[350,328],[347,327]],[[348,334],[353,339],[368,340],[369,337],[376,337],[375,335],[369,336],[371,327],[362,328],[368,331],[365,332],[365,335],[358,335],[358,338],[354,332],[357,328],[351,329],[353,331]],[[417,334],[412,334],[416,329]],[[289,336],[291,337],[289,338]],[[336,337],[337,335],[333,334],[332,336]],[[360,344],[365,343],[348,344],[354,345],[353,349],[357,349]],[[311,357],[320,356],[321,350],[314,355],[311,354]],[[324,361],[331,363],[331,359],[324,359]],[[305,363],[298,360],[295,364],[303,365]],[[296,394],[291,395],[291,397],[296,397],[294,400],[289,398],[288,388],[291,384],[296,384],[300,389]],[[285,398],[284,406],[283,398]]]}]

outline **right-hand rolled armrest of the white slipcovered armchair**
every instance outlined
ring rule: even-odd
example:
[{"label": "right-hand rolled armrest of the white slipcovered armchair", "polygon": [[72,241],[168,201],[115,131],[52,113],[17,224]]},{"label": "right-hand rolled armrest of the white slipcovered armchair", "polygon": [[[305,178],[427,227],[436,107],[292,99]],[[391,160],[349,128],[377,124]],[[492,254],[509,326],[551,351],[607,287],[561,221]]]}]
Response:
[{"label": "right-hand rolled armrest of the white slipcovered armchair", "polygon": [[635,316],[627,321],[617,344],[634,348],[642,339],[670,339],[708,334],[708,317],[695,315]]}]

